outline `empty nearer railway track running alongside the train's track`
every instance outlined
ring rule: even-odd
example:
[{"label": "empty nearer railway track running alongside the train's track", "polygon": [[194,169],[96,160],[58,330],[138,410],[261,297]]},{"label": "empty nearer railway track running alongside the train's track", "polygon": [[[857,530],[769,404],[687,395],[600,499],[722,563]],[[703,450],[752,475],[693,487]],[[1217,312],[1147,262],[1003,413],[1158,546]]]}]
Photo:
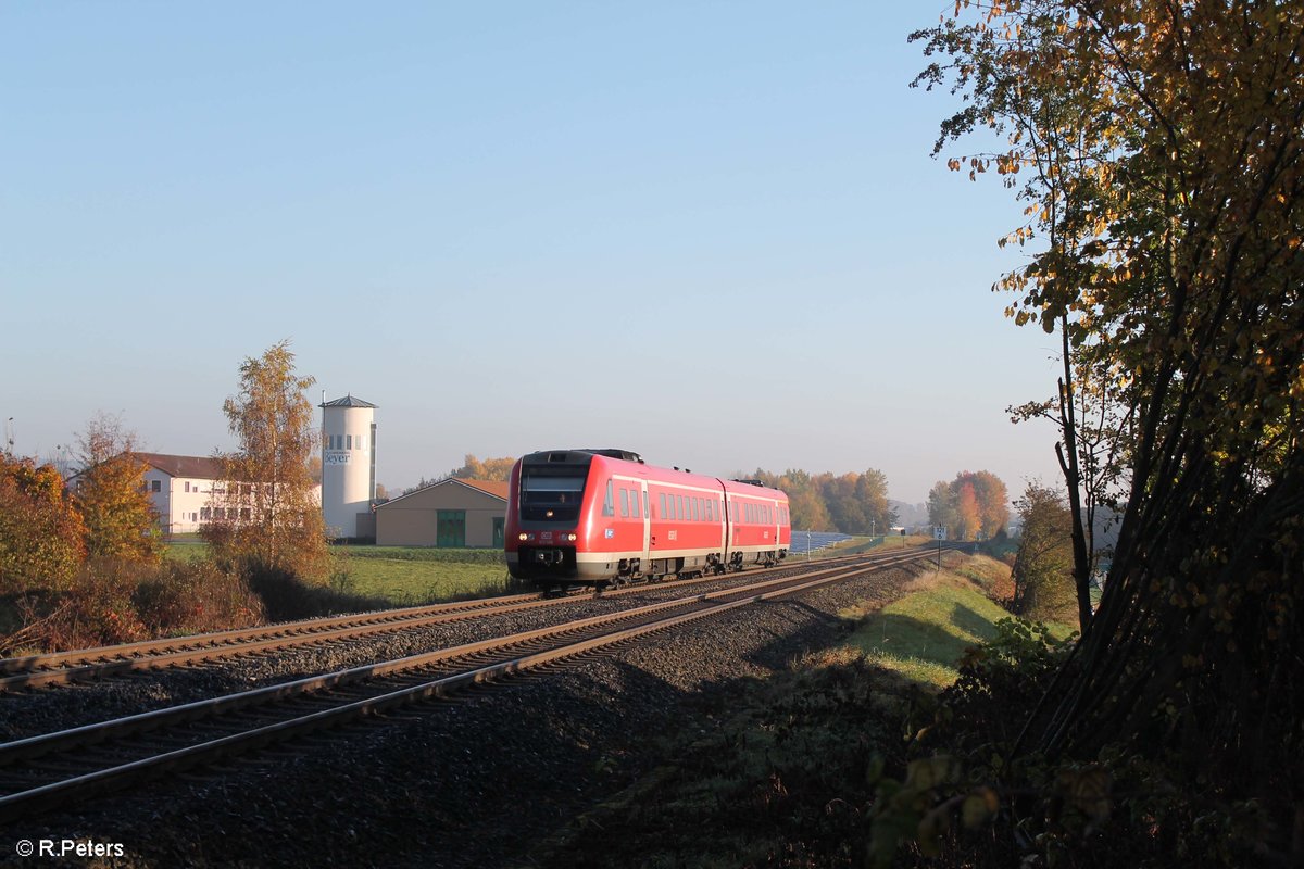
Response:
[{"label": "empty nearer railway track running alongside the train's track", "polygon": [[248,754],[467,685],[632,642],[686,621],[931,556],[882,555],[741,588],[377,662],[0,745],[0,818]]}]

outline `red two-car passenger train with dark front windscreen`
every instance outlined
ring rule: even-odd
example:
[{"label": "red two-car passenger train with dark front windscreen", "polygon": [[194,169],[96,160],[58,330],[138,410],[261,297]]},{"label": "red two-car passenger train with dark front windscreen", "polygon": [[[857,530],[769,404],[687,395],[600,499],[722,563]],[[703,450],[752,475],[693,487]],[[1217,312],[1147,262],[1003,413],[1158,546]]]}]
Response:
[{"label": "red two-car passenger train with dark front windscreen", "polygon": [[533,452],[511,469],[507,569],[536,585],[769,567],[790,541],[788,495],[759,482],[653,468],[625,449]]}]

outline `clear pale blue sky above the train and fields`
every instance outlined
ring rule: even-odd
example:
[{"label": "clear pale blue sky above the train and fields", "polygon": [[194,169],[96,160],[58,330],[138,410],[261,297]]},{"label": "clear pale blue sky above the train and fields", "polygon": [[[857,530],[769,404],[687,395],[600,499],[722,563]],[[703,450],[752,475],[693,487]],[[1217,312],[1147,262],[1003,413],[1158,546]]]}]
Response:
[{"label": "clear pale blue sky above the train and fields", "polygon": [[1003,318],[1020,206],[928,156],[927,5],[0,5],[0,420],[233,442],[289,337],[379,405],[390,490],[619,446],[892,496],[1055,478],[1054,339]]}]

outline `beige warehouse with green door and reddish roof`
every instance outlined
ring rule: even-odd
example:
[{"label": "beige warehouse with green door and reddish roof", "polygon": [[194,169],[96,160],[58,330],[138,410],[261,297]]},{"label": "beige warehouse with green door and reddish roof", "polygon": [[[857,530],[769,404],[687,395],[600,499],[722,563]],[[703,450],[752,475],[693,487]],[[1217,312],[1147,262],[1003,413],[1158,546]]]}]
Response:
[{"label": "beige warehouse with green door and reddish roof", "polygon": [[507,483],[441,479],[376,508],[378,546],[502,548]]}]

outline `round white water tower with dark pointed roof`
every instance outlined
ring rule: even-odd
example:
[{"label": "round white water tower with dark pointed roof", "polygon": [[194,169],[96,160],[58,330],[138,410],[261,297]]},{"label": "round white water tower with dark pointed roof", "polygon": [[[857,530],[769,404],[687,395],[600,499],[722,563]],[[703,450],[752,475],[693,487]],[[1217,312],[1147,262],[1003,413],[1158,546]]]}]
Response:
[{"label": "round white water tower with dark pointed roof", "polygon": [[321,409],[322,519],[333,535],[355,538],[376,498],[376,405],[348,395]]}]

